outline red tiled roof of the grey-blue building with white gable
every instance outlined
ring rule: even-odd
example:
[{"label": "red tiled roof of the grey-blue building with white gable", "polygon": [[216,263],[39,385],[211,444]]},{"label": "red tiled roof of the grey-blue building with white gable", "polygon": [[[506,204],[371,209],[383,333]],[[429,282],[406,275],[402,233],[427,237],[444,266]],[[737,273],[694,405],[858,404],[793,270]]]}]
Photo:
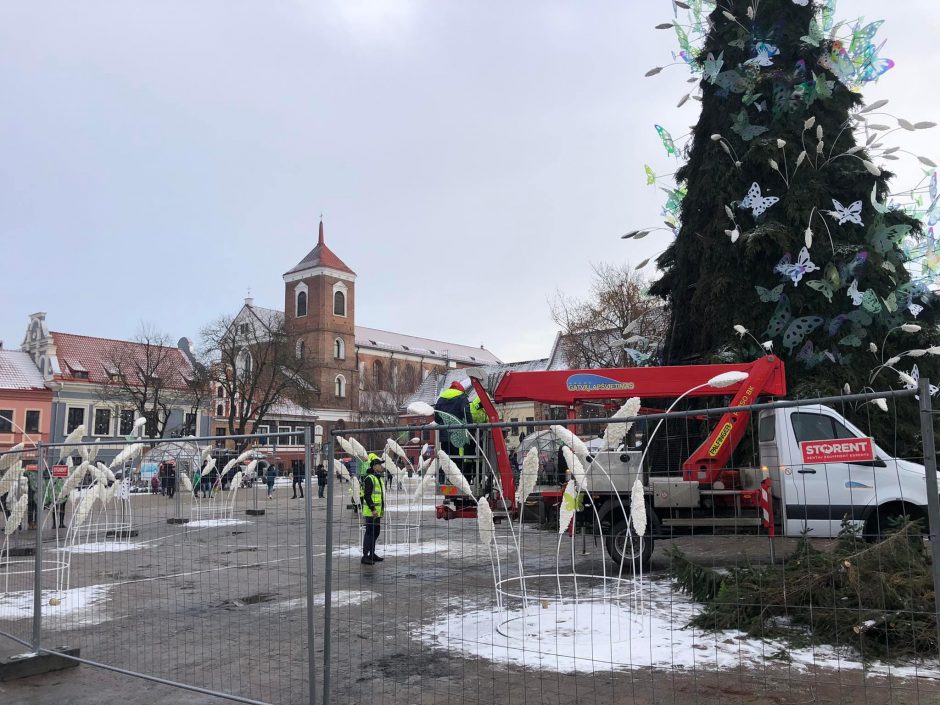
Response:
[{"label": "red tiled roof of the grey-blue building with white gable", "polygon": [[[87,372],[89,382],[107,384],[110,382],[108,373],[120,371],[132,382],[137,378],[135,367],[147,367],[147,346],[143,343],[54,331],[50,335],[56,346],[59,368],[65,378],[75,377],[74,372]],[[167,387],[185,389],[186,377],[192,369],[189,360],[179,348],[161,346],[161,351],[166,351],[166,356],[155,376],[162,378]],[[159,356],[155,352],[151,353],[151,365],[156,364],[161,357],[162,352]]]}]

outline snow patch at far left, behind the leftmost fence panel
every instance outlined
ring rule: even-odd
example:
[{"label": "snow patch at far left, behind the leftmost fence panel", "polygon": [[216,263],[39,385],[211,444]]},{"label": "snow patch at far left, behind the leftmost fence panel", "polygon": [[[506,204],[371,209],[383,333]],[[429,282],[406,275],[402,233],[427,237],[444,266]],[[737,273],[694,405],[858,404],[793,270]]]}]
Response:
[{"label": "snow patch at far left, behind the leftmost fence panel", "polygon": [[[89,585],[71,590],[42,591],[43,629],[75,629],[101,624],[111,618],[105,610],[112,585]],[[51,605],[50,600],[59,600]],[[0,594],[0,620],[32,619],[33,591],[18,590]]]}]

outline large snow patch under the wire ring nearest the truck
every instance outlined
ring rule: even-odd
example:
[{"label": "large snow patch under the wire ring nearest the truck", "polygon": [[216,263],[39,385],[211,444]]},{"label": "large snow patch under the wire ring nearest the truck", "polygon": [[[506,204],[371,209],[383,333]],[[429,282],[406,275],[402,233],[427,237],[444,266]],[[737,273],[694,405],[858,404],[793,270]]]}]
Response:
[{"label": "large snow patch under the wire ring nearest the truck", "polygon": [[[584,596],[587,596],[587,592]],[[624,671],[635,668],[731,670],[789,667],[864,668],[858,656],[832,647],[791,649],[777,641],[738,631],[702,632],[686,627],[700,605],[673,592],[668,581],[643,585],[642,604],[630,595],[619,602],[521,602],[504,609],[465,606],[419,626],[420,641],[467,657],[560,673]],[[940,664],[869,664],[868,673],[940,678]]]}]

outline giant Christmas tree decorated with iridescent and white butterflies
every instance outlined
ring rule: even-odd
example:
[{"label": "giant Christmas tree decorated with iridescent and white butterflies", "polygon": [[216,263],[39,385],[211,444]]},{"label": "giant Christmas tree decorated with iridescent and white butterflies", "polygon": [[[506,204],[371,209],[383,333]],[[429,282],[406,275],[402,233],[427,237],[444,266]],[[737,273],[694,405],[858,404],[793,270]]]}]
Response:
[{"label": "giant Christmas tree decorated with iridescent and white butterflies", "polygon": [[[766,342],[798,396],[897,387],[913,364],[936,378],[937,350],[926,351],[940,310],[911,273],[912,252],[932,241],[916,207],[889,196],[879,165],[897,150],[873,124],[882,106],[860,93],[891,66],[875,44],[881,23],[836,23],[834,0],[675,4],[690,10],[670,26],[678,58],[701,77],[702,109],[670,189],[676,238],[652,288],[671,308],[664,362],[749,360]],[[903,374],[872,381],[910,350],[916,360],[892,361]]]}]

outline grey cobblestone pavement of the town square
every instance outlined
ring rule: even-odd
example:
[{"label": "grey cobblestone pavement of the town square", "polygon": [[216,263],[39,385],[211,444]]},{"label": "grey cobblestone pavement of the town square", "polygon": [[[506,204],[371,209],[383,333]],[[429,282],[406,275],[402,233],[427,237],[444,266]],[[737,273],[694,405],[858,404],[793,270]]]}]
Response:
[{"label": "grey cobblestone pavement of the town square", "polygon": [[[410,512],[393,512],[386,518],[380,548],[386,560],[363,566],[358,524],[346,509],[346,487],[337,486],[343,494],[335,498],[335,608],[330,629],[335,703],[940,703],[936,682],[924,678],[863,678],[857,671],[825,668],[797,672],[766,661],[742,661],[722,672],[647,667],[562,674],[550,667],[507,665],[435,648],[432,641],[417,638],[421,625],[495,607],[494,564],[479,543],[476,522],[436,520],[433,498]],[[392,500],[394,505],[394,495]],[[61,614],[52,606],[44,608],[44,643],[78,646],[84,658],[278,705],[308,702],[303,502],[291,499],[290,490],[283,487],[272,500],[247,490],[233,514],[244,523],[202,528],[168,524],[176,503],[163,497],[134,497],[132,504],[139,533],[124,543],[134,546],[72,554],[74,605],[65,601],[69,609]],[[181,506],[184,516],[200,518],[192,514],[188,497]],[[265,510],[263,516],[245,513],[256,506]],[[312,506],[319,685],[324,675],[326,500],[314,497]],[[557,535],[531,525],[521,537],[518,525],[513,531],[524,547],[527,572],[554,572]],[[500,569],[507,570],[514,558],[507,551],[511,538],[505,523],[497,535],[503,551]],[[105,543],[103,535],[94,539],[84,542],[86,550]],[[754,560],[767,557],[767,540],[756,537],[681,543],[710,565],[734,564],[744,553]],[[788,543],[778,542],[778,553],[786,551]],[[581,537],[575,547],[578,572],[600,575],[601,547]],[[44,544],[44,555],[64,554],[50,541]],[[566,570],[570,560],[562,556]],[[658,547],[654,576],[662,572],[664,561]],[[4,604],[0,601],[0,629],[28,639],[28,615],[10,618]],[[534,644],[528,648],[537,650]],[[0,638],[0,656],[23,650]],[[88,665],[0,683],[3,705],[102,702],[230,701]]]}]

